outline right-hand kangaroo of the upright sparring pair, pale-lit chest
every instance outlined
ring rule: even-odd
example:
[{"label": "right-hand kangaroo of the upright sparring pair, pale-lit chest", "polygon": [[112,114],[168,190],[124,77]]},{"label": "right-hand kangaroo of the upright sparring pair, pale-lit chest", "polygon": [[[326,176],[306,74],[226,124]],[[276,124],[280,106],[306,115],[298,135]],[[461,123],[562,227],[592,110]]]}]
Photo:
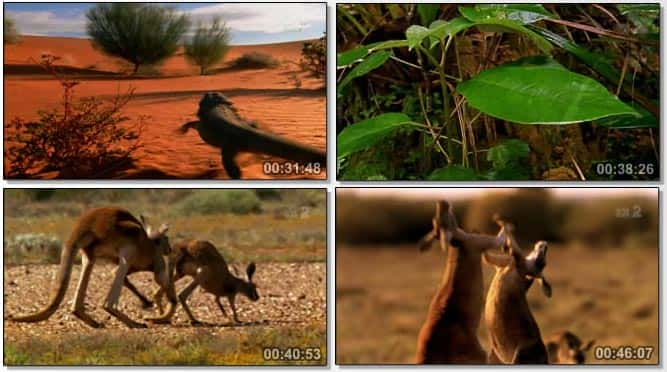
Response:
[{"label": "right-hand kangaroo of the upright sparring pair, pale-lit chest", "polygon": [[551,285],[542,270],[546,265],[547,243],[535,243],[527,256],[513,237],[513,226],[496,220],[508,237],[505,248],[509,256],[485,257],[496,266],[486,297],[485,320],[489,331],[490,364],[546,364],[547,349],[540,329],[526,299],[526,292],[537,279],[542,290],[551,297]]}]

